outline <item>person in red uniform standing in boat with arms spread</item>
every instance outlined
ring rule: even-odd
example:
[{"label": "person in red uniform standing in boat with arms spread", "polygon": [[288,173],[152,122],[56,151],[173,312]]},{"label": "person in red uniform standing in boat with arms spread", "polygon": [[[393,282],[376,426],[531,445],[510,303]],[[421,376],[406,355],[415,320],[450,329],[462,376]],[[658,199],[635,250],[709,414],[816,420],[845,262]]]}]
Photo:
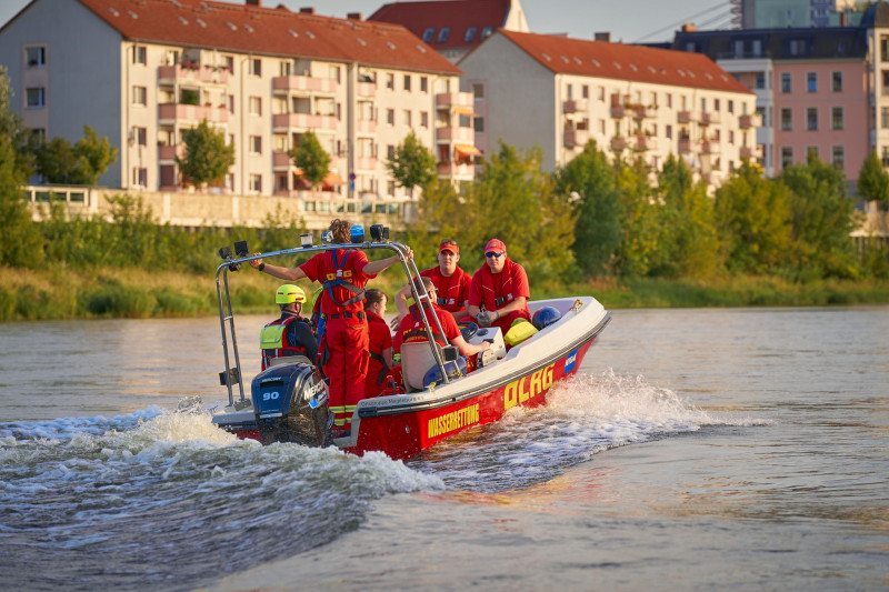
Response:
[{"label": "person in red uniform standing in boat with arms spread", "polygon": [[[330,222],[333,242],[348,244],[350,228],[346,220]],[[413,252],[408,249],[406,255],[412,259]],[[350,433],[352,413],[364,398],[369,358],[364,285],[398,261],[398,255],[368,261],[363,251],[352,249],[318,253],[297,268],[269,265],[262,259],[250,261],[253,268],[269,275],[288,281],[309,278],[324,287],[321,294],[324,335],[319,350],[321,367],[330,380],[329,405],[333,413],[334,438]]]}]

